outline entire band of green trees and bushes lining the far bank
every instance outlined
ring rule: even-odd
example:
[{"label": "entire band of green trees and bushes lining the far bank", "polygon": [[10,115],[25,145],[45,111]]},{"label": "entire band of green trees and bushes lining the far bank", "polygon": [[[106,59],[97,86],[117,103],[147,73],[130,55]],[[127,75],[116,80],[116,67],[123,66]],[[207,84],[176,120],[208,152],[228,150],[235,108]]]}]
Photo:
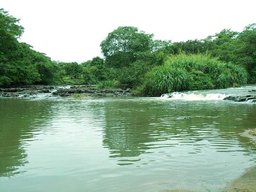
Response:
[{"label": "entire band of green trees and bushes lining the far bank", "polygon": [[101,84],[135,88],[138,95],[220,89],[256,83],[256,24],[223,29],[205,39],[153,40],[136,27],[118,27],[101,42],[104,59],[52,61],[26,43],[19,20],[0,9],[0,86]]}]

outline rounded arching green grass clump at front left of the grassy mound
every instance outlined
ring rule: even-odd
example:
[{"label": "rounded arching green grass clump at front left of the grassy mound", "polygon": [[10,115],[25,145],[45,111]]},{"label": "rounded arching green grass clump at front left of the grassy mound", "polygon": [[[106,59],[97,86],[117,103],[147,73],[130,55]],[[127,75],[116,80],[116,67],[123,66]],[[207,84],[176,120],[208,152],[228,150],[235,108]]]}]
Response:
[{"label": "rounded arching green grass clump at front left of the grassy mound", "polygon": [[188,72],[181,68],[159,66],[149,73],[148,86],[152,95],[186,90],[189,82]]}]

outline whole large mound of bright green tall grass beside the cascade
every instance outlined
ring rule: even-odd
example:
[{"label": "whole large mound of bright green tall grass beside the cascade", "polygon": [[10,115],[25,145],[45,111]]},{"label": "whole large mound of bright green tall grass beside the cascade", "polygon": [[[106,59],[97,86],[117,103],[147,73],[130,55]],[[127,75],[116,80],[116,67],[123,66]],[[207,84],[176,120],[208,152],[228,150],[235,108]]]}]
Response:
[{"label": "whole large mound of bright green tall grass beside the cascade", "polygon": [[134,93],[159,96],[183,90],[223,89],[246,84],[247,77],[241,66],[220,62],[207,54],[180,53],[169,56],[164,66],[153,68]]}]

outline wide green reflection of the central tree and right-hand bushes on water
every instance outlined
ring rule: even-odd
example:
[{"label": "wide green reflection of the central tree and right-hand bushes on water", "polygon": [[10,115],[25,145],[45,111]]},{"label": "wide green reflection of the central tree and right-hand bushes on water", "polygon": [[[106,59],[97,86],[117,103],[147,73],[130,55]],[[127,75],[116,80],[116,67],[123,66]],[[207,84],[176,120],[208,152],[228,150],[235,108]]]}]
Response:
[{"label": "wide green reflection of the central tree and right-hand bushes on water", "polygon": [[[239,134],[244,127],[256,124],[253,110],[255,113],[252,106],[223,103],[107,102],[103,145],[109,148],[110,157],[135,157],[151,148],[194,145],[200,141],[223,152],[239,143],[252,153],[255,145]],[[186,116],[192,118],[184,119]]]}]

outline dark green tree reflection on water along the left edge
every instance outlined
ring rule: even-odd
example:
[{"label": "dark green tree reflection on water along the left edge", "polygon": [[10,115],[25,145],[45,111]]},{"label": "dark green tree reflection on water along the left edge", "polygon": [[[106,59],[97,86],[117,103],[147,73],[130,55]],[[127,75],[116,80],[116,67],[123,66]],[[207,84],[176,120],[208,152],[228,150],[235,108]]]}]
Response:
[{"label": "dark green tree reflection on water along the left edge", "polygon": [[28,163],[25,146],[49,120],[51,102],[0,99],[0,177],[21,173]]}]

